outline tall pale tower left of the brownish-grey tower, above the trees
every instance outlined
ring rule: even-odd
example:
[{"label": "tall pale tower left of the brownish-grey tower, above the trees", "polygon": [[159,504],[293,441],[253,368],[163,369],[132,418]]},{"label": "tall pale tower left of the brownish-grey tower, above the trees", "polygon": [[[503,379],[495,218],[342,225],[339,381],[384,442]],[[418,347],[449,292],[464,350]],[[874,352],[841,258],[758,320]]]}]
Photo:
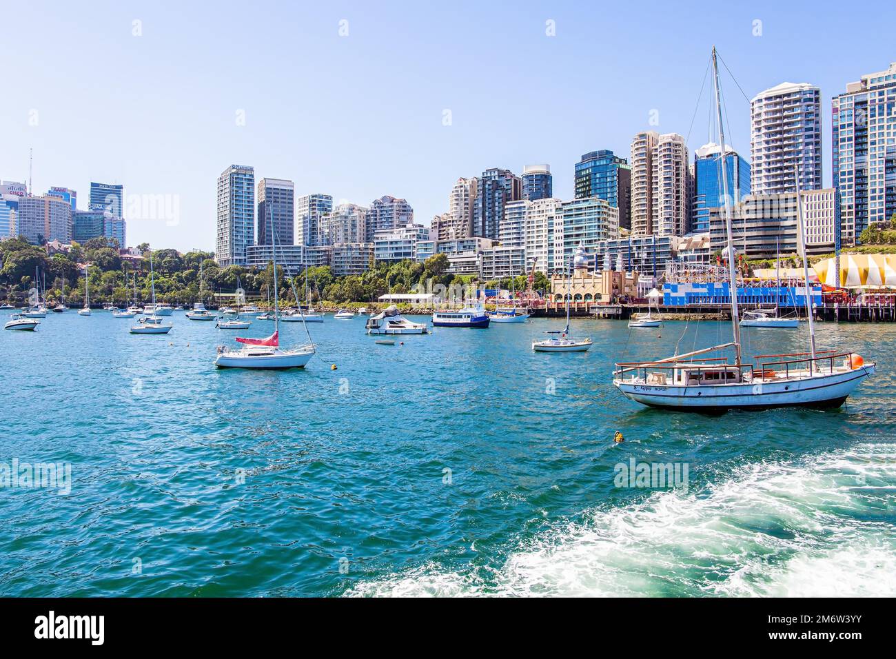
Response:
[{"label": "tall pale tower left of the brownish-grey tower, above the trees", "polygon": [[221,267],[246,265],[246,247],[254,244],[254,229],[255,171],[230,165],[218,178],[215,261]]}]

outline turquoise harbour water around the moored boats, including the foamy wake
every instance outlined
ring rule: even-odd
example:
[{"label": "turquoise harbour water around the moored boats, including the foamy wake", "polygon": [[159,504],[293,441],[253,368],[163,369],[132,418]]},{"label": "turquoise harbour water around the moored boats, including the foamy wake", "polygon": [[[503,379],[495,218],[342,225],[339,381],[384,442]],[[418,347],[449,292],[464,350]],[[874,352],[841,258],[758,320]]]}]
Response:
[{"label": "turquoise harbour water around the moored boats, including the foamy wake", "polygon": [[[625,400],[611,364],[727,324],[580,320],[590,352],[542,354],[562,321],[382,346],[328,317],[306,370],[254,372],[215,346],[271,324],[131,322],[0,334],[0,463],[72,468],[67,495],[0,490],[0,595],[896,593],[896,325],[819,327],[879,365],[839,411],[703,417]],[[687,491],[616,487],[631,458],[687,464]]]}]

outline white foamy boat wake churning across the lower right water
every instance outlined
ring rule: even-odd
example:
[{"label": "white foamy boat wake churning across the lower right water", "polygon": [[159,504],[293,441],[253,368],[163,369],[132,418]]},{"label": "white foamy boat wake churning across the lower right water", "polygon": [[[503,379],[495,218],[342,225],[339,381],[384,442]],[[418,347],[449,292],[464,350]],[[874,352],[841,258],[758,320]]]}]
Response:
[{"label": "white foamy boat wake churning across the lower right water", "polygon": [[496,570],[430,563],[347,594],[892,596],[894,509],[896,444],[859,445],[590,510]]}]

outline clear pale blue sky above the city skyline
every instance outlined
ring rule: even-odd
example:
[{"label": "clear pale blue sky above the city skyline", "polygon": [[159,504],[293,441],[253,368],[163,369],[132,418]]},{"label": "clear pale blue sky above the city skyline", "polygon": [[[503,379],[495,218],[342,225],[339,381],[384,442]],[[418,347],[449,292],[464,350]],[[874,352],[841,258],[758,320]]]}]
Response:
[{"label": "clear pale blue sky above the city skyline", "polygon": [[[547,162],[555,195],[571,198],[582,153],[627,157],[651,127],[688,134],[715,43],[751,98],[784,81],[821,87],[830,182],[831,96],[896,61],[893,7],[4,2],[0,178],[24,180],[33,147],[34,188],[72,187],[81,207],[90,180],[177,195],[177,226],[131,217],[128,242],[182,250],[213,249],[216,179],[231,163],[290,178],[297,195],[402,196],[424,224],[447,211],[456,178],[489,167]],[[723,74],[728,142],[748,157],[749,106]],[[692,150],[706,142],[705,101]]]}]

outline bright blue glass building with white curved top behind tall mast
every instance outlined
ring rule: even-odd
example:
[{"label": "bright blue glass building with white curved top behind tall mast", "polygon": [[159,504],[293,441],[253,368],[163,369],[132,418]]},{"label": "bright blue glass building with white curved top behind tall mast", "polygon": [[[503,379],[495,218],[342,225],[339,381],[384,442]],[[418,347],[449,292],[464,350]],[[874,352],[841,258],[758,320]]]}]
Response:
[{"label": "bright blue glass building with white curved top behind tall mast", "polygon": [[[707,143],[694,152],[693,209],[691,229],[710,230],[710,209],[724,205],[722,195],[721,149],[717,143]],[[737,204],[749,195],[750,163],[730,146],[725,150],[725,169],[731,203]]]}]

